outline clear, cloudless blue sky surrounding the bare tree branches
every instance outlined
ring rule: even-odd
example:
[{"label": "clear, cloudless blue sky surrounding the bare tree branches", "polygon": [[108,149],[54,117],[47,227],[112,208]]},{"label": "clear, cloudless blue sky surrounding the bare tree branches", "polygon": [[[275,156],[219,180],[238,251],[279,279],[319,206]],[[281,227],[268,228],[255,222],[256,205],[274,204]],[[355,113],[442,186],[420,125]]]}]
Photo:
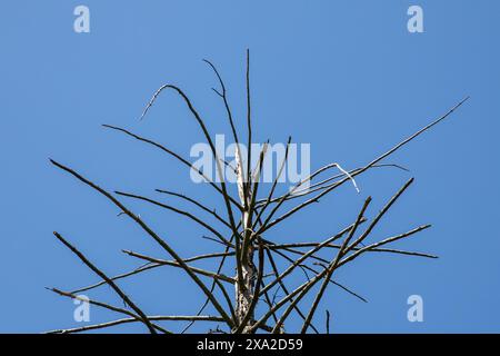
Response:
[{"label": "clear, cloudless blue sky surrounding the bare tree branches", "polygon": [[[73,31],[78,4],[90,8],[90,33]],[[407,31],[410,4],[423,8],[424,33]],[[414,176],[371,239],[430,222],[432,229],[398,247],[440,258],[360,259],[338,280],[369,303],[329,289],[318,325],[329,308],[337,333],[500,332],[499,13],[493,0],[2,1],[0,332],[79,325],[71,300],[43,287],[71,289],[97,277],[54,240],[53,230],[110,275],[138,265],[122,248],[164,257],[107,200],[51,167],[49,157],[109,189],[153,197],[154,188],[180,190],[221,207],[177,161],[100,125],[133,129],[188,156],[202,138],[180,100],[162,96],[139,121],[144,103],[160,85],[179,83],[212,134],[222,132],[223,108],[210,90],[217,82],[201,61],[209,58],[243,122],[247,47],[257,139],[286,141],[291,135],[310,142],[313,167],[366,164],[471,96],[449,121],[390,159],[410,174],[369,172],[358,181],[360,195],[346,186],[268,238],[326,237],[349,224],[368,195],[372,216]],[[190,221],[128,202],[182,256],[213,248]],[[158,269],[121,285],[150,314],[190,314],[201,303],[180,270]],[[423,297],[423,323],[407,320],[413,294]],[[108,287],[89,296],[119,305]],[[91,309],[93,323],[113,317]]]}]

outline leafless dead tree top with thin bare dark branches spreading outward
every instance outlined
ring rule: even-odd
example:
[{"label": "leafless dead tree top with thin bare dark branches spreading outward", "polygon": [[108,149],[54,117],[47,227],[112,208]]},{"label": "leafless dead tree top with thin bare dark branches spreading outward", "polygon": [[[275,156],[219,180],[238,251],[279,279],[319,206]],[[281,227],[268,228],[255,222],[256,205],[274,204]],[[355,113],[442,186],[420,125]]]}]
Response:
[{"label": "leafless dead tree top with thin bare dark branches spreading outward", "polygon": [[[429,228],[430,225],[419,226],[408,230],[404,234],[390,236],[369,245],[363,244],[373,228],[378,225],[380,219],[413,182],[413,178],[408,180],[386,202],[386,205],[371,220],[367,219],[367,217],[364,216],[364,212],[371,202],[371,197],[368,197],[364,200],[364,204],[361,206],[358,216],[353,217],[352,221],[349,221],[349,224],[347,224],[347,226],[343,227],[340,231],[322,241],[281,244],[270,240],[267,235],[269,230],[283,224],[289,217],[296,215],[311,204],[319,202],[321,198],[336,191],[336,189],[343,184],[350,181],[354,184],[354,187],[357,188],[354,180],[357,176],[376,167],[396,166],[384,164],[383,160],[421,134],[432,128],[434,125],[444,120],[468,98],[463,99],[443,116],[423,127],[419,131],[414,132],[410,137],[406,138],[404,140],[400,141],[398,145],[393,146],[391,149],[378,156],[367,165],[352,169],[350,171],[346,171],[338,164],[327,165],[317,169],[311,175],[296,184],[288,192],[276,196],[276,189],[279,178],[282,175],[283,167],[289,158],[288,154],[291,138],[289,138],[288,140],[286,154],[283,160],[280,164],[277,176],[274,177],[269,191],[263,194],[261,191],[262,189],[259,190],[259,184],[260,174],[262,170],[262,161],[267,154],[267,145],[262,146],[257,167],[251,167],[251,149],[248,149],[246,155],[247,157],[242,157],[243,155],[239,148],[241,137],[239,136],[239,131],[237,130],[237,126],[233,120],[231,107],[228,101],[227,88],[224,86],[222,77],[219,73],[218,69],[213,66],[213,63],[208,60],[204,60],[204,62],[210,66],[219,81],[220,88],[213,89],[213,91],[222,100],[227,113],[228,125],[230,126],[232,138],[236,142],[237,166],[232,168],[234,169],[234,174],[237,175],[238,196],[231,196],[228,190],[228,182],[224,181],[224,176],[222,174],[222,169],[224,168],[224,165],[227,162],[218,156],[216,146],[206,121],[202,119],[199,111],[197,111],[194,105],[191,102],[186,92],[178,86],[171,83],[162,86],[154,92],[152,99],[147,105],[141,119],[147,115],[148,110],[158,99],[160,93],[162,93],[163,91],[173,91],[178,93],[181,100],[187,105],[194,120],[198,122],[204,138],[207,139],[208,145],[210,146],[217,171],[219,174],[219,177],[222,177],[220,182],[213,182],[203,174],[203,171],[194,168],[188,159],[183,158],[181,155],[172,151],[161,144],[136,135],[120,127],[110,125],[103,125],[103,127],[150,145],[156,149],[159,149],[164,154],[173,157],[184,166],[189,167],[189,169],[196,170],[197,174],[203,177],[211,186],[211,188],[213,188],[223,200],[226,207],[224,215],[219,215],[210,206],[203,204],[203,201],[199,201],[180,192],[160,189],[157,189],[157,192],[187,201],[192,206],[193,209],[197,209],[200,212],[204,211],[204,214],[208,214],[213,219],[212,222],[202,220],[196,212],[182,210],[152,198],[124,191],[110,192],[92,182],[89,178],[83,177],[76,170],[54,160],[50,160],[52,165],[70,174],[79,181],[92,188],[102,197],[108,199],[111,204],[117,206],[121,215],[128,216],[133,222],[136,222],[143,230],[143,233],[152,238],[168,256],[167,259],[158,259],[134,251],[124,250],[124,254],[142,261],[147,261],[147,264],[131,271],[110,277],[101,269],[99,269],[94,264],[92,264],[92,261],[90,261],[83,253],[71,245],[63,236],[61,236],[59,233],[54,233],[54,236],[74,255],[77,255],[77,257],[86,266],[88,266],[96,275],[98,275],[101,280],[94,285],[79,288],[72,291],[63,291],[57,288],[50,288],[50,290],[64,297],[81,298],[78,296],[79,293],[98,288],[99,286],[108,285],[123,300],[124,307],[118,307],[99,300],[89,299],[87,301],[90,303],[90,305],[116,312],[120,314],[122,318],[97,325],[87,325],[79,328],[53,330],[52,333],[78,333],[91,329],[103,329],[126,323],[142,323],[147,330],[151,334],[170,334],[171,332],[166,329],[162,325],[159,325],[159,323],[189,322],[188,326],[186,326],[182,330],[182,333],[184,333],[191,327],[193,323],[206,322],[214,323],[214,325],[217,326],[214,328],[210,328],[209,333],[281,334],[286,332],[284,326],[291,315],[296,315],[297,317],[299,317],[302,320],[302,326],[298,330],[287,329],[287,332],[307,333],[308,330],[312,330],[313,333],[320,333],[318,327],[312,324],[312,320],[320,300],[324,296],[327,287],[329,287],[330,285],[336,285],[347,293],[351,294],[352,296],[364,300],[354,291],[332,279],[334,271],[342,266],[352,263],[364,254],[383,253],[424,258],[437,258],[437,256],[429,254],[390,248],[390,245],[392,243],[420,233]],[[246,139],[248,142],[247,147],[250,148],[252,144],[252,116],[250,96],[250,61],[248,50],[246,83]],[[331,174],[327,178],[319,180],[320,175],[330,174],[332,169],[340,170],[340,174]],[[307,188],[304,188],[306,184],[308,184]],[[119,200],[119,198],[139,199],[143,202],[148,202],[156,207],[181,215],[182,217],[188,218],[202,226],[204,229],[216,236],[214,240],[223,246],[223,250],[209,251],[204,255],[192,257],[181,257],[169,245],[167,239],[162,238],[158,233],[156,233],[150,227],[150,225],[148,225],[140,216],[130,210],[121,200]],[[297,201],[297,204],[292,208],[283,211],[283,208],[287,206],[286,202],[289,204],[294,201]],[[219,225],[223,227],[223,231],[220,230]],[[366,227],[361,230],[362,225]],[[326,253],[327,255],[329,253],[332,253],[332,256],[326,258],[319,253]],[[288,267],[280,270],[277,258],[287,261]],[[193,264],[199,260],[218,261],[218,267],[216,270],[207,270],[194,267]],[[227,264],[230,264],[230,266],[234,268],[234,276],[228,276],[222,273],[222,269]],[[202,295],[204,295],[206,297],[206,301],[198,310],[198,313],[194,313],[194,315],[191,316],[148,315],[117,284],[117,281],[120,279],[128,278],[130,276],[142,274],[147,270],[163,266],[181,268],[186,273],[187,277],[189,277],[199,287],[200,293],[202,293]],[[287,286],[290,284],[290,278],[287,277],[292,276],[292,274],[298,269],[302,270],[307,278],[302,284],[290,288]],[[293,279],[293,281],[297,283],[296,279]],[[312,289],[316,286],[319,286],[319,288],[316,288],[317,290]],[[230,291],[231,288],[233,288],[233,291]],[[300,305],[300,301],[309,294],[312,295],[313,290],[316,290],[316,295],[312,298],[311,305],[307,308],[303,308],[303,306]],[[231,296],[231,294],[233,295]],[[213,309],[217,312],[216,315],[203,315],[203,310],[208,305],[211,305],[213,307]],[[327,332],[329,332],[328,310]]]}]

